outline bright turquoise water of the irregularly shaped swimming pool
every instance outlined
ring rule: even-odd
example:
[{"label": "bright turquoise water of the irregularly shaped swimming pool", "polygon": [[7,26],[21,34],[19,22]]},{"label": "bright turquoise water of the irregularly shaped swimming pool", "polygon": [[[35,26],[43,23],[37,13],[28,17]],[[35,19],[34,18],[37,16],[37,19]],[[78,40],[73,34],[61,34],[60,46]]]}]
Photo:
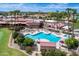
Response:
[{"label": "bright turquoise water of the irregularly shaped swimming pool", "polygon": [[39,33],[34,34],[34,35],[26,34],[25,37],[32,38],[33,40],[46,39],[46,40],[49,40],[50,42],[54,42],[54,43],[58,42],[61,39],[60,37],[57,37],[54,34],[45,34],[43,32],[39,32]]}]

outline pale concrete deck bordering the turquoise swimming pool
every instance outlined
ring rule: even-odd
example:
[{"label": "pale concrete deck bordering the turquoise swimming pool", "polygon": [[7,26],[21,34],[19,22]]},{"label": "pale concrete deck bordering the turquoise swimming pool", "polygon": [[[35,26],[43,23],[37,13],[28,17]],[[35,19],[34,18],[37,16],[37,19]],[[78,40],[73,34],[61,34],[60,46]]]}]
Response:
[{"label": "pale concrete deck bordering the turquoise swimming pool", "polygon": [[[61,41],[61,40],[64,41],[64,39],[65,39],[64,38],[64,33],[51,32],[51,31],[46,30],[46,29],[33,29],[33,31],[24,31],[23,34],[24,35],[27,35],[27,34],[35,35],[35,34],[37,34],[39,32],[44,32],[45,34],[53,34],[53,35],[55,35],[57,37],[60,37],[60,40],[59,41]],[[40,39],[40,41],[42,41],[42,42],[50,42],[47,39]]]}]

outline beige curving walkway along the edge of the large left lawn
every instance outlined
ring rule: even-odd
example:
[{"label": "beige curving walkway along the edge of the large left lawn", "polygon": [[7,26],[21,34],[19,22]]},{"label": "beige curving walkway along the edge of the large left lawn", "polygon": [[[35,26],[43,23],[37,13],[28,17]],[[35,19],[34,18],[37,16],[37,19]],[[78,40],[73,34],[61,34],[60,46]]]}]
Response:
[{"label": "beige curving walkway along the edge of the large left lawn", "polygon": [[38,56],[41,56],[41,53],[37,52],[37,51],[33,51],[32,55],[29,55],[28,53],[26,53],[25,50],[21,50],[20,47],[18,46],[18,44],[14,44],[14,40],[12,39],[12,33],[11,33],[10,38],[9,38],[8,47],[17,49],[28,56],[36,56],[36,54],[38,54]]}]

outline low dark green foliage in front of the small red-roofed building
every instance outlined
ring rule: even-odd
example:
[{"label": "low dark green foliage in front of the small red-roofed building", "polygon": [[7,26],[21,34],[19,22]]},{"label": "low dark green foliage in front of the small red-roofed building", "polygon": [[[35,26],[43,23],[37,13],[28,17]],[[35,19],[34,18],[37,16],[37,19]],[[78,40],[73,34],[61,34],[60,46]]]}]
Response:
[{"label": "low dark green foliage in front of the small red-roofed building", "polygon": [[49,49],[49,50],[42,50],[41,54],[43,56],[65,56],[66,53],[63,51],[60,51],[58,49]]}]

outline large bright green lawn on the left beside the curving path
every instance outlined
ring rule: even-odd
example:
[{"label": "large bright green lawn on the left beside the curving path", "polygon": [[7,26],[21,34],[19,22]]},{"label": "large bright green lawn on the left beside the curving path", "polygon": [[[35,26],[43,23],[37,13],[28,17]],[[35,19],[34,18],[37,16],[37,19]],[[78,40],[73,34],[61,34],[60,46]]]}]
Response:
[{"label": "large bright green lawn on the left beside the curving path", "polygon": [[25,56],[21,51],[8,47],[10,34],[7,28],[0,29],[0,56]]}]

